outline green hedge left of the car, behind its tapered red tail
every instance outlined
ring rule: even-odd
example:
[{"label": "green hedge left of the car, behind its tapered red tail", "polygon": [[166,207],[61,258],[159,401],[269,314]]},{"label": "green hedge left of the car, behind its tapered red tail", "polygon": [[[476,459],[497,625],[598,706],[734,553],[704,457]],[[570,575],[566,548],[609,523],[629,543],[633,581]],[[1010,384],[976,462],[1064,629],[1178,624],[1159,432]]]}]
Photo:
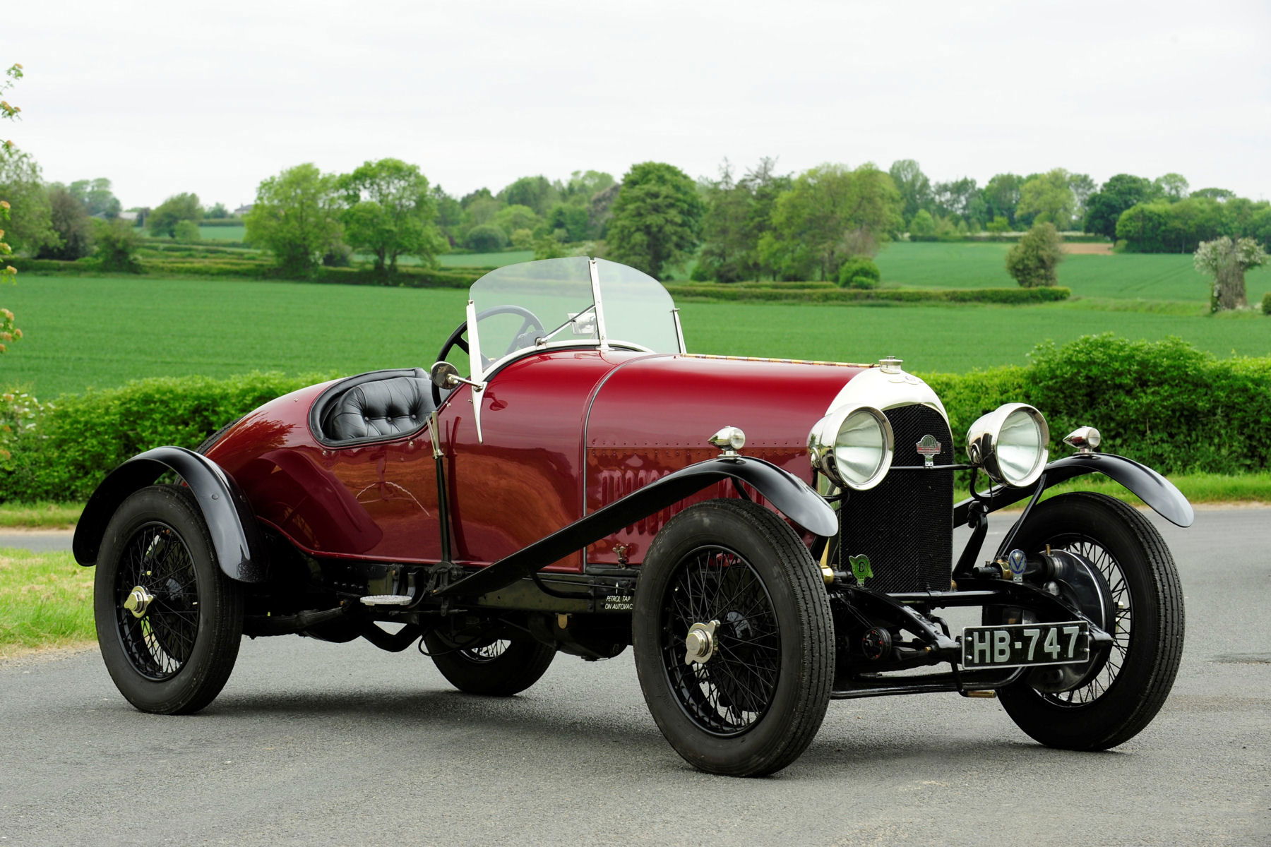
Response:
[{"label": "green hedge left of the car, behind its tapered red tail", "polygon": [[83,500],[131,456],[160,444],[193,450],[267,400],[333,376],[139,380],[46,404],[33,427],[6,427],[14,395],[0,395],[0,502]]}]

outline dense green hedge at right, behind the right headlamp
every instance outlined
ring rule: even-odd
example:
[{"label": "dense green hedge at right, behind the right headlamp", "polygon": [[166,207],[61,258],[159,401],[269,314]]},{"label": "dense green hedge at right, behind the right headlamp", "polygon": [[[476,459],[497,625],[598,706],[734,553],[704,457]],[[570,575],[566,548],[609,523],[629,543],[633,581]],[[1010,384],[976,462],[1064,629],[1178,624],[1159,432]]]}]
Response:
[{"label": "dense green hedge at right, behind the right headlamp", "polygon": [[1218,359],[1178,338],[1131,342],[1088,335],[1042,344],[1028,367],[927,377],[961,447],[967,427],[1002,403],[1037,406],[1051,455],[1083,425],[1102,450],[1163,474],[1240,474],[1271,469],[1271,358]]}]

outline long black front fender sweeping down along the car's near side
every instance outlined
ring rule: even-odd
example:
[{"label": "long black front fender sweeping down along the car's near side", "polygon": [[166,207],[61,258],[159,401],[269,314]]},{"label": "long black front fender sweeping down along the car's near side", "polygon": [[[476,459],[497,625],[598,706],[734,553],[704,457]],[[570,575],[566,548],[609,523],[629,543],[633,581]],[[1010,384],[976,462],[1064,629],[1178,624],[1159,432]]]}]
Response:
[{"label": "long black front fender sweeping down along the car's near side", "polygon": [[529,577],[553,561],[679,503],[708,485],[735,479],[751,485],[778,512],[819,536],[839,531],[838,516],[820,494],[789,471],[761,458],[718,456],[655,480],[620,500],[574,521],[563,530],[505,556],[435,592],[440,597],[478,597]]}]

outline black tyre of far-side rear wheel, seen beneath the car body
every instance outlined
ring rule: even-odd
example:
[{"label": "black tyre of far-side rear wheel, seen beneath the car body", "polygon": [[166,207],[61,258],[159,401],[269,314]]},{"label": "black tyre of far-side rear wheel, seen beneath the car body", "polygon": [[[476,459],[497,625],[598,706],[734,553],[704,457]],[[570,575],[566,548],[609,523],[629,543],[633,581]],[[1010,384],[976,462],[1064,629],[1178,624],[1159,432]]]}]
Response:
[{"label": "black tyre of far-side rear wheel, seen beneath the car body", "polygon": [[428,632],[423,641],[441,676],[469,695],[519,695],[541,679],[555,658],[555,648],[520,634],[472,648],[456,648],[437,632]]}]

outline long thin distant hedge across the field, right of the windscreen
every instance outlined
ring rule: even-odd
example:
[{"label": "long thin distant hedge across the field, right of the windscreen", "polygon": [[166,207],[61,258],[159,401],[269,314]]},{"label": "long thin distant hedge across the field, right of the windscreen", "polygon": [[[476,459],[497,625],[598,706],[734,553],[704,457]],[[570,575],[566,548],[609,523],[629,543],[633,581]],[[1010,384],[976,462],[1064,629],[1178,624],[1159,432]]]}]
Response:
[{"label": "long thin distant hedge across the field, right of the windscreen", "polygon": [[960,302],[960,303],[1040,303],[1068,300],[1071,290],[1061,286],[1040,288],[838,288],[825,287],[749,287],[745,284],[669,284],[676,300],[763,301],[763,302]]}]

